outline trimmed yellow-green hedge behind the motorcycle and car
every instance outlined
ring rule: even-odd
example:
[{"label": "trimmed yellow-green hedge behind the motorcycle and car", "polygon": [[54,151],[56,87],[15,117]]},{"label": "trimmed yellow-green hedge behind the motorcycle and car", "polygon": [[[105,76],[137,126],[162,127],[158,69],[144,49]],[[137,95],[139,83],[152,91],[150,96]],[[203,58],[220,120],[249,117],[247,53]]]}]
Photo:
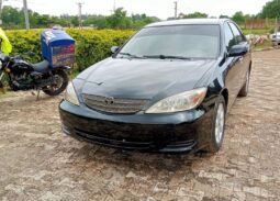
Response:
[{"label": "trimmed yellow-green hedge behind the motorcycle and car", "polygon": [[[94,63],[111,55],[112,46],[120,46],[134,34],[134,31],[119,30],[66,30],[76,40],[76,64],[75,71],[81,71]],[[11,55],[23,55],[26,52],[34,52],[36,56],[30,62],[40,62],[42,30],[32,31],[7,31],[12,43]]]}]

